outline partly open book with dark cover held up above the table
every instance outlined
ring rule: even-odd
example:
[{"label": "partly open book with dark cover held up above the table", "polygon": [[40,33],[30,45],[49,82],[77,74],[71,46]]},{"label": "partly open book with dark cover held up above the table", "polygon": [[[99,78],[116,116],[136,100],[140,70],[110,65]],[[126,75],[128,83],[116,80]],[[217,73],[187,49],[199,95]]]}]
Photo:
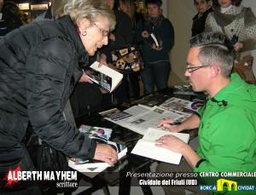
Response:
[{"label": "partly open book with dark cover held up above the table", "polygon": [[98,67],[99,64],[95,61],[91,66],[84,67],[84,75],[102,89],[111,93],[122,80],[123,75],[108,66]]}]

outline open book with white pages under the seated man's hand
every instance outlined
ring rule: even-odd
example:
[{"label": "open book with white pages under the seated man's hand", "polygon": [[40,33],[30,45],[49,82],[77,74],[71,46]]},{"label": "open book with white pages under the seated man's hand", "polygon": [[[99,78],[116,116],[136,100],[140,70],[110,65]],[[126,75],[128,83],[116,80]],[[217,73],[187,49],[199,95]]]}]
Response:
[{"label": "open book with white pages under the seated man's hand", "polygon": [[131,153],[159,160],[165,163],[179,164],[182,158],[182,154],[172,152],[166,148],[154,146],[154,141],[158,140],[161,136],[164,135],[175,135],[185,143],[189,142],[189,134],[172,133],[162,129],[148,128],[146,134],[143,136],[143,139],[140,139],[137,142]]}]

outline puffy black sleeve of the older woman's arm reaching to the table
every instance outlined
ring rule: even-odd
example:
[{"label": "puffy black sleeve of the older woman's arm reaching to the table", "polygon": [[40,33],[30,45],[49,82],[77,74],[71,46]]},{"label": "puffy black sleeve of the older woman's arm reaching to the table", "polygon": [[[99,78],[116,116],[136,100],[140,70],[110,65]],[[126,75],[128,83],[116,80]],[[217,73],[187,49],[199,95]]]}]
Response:
[{"label": "puffy black sleeve of the older woman's arm reaching to the table", "polygon": [[61,111],[73,59],[73,44],[63,37],[49,38],[32,49],[26,60],[27,110],[42,141],[68,157],[89,159],[94,157],[96,143],[67,123]]}]

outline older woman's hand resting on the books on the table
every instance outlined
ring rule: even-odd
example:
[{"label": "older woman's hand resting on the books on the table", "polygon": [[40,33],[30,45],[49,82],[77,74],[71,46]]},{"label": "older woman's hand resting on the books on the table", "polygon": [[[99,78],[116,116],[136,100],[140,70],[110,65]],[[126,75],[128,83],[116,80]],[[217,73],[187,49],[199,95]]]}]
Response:
[{"label": "older woman's hand resting on the books on the table", "polygon": [[118,154],[112,146],[108,146],[107,144],[97,144],[93,159],[101,160],[113,167],[114,163],[118,160]]}]

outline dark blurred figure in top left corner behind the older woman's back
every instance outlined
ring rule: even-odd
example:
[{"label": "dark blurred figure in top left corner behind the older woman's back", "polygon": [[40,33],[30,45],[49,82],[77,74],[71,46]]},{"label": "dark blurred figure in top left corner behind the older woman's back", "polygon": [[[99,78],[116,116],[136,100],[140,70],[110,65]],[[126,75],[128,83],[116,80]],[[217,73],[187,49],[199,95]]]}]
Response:
[{"label": "dark blurred figure in top left corner behind the older woman's back", "polygon": [[3,38],[4,35],[15,28],[22,26],[19,7],[13,2],[7,3],[6,6],[4,4],[3,0],[0,0],[0,38]]}]

